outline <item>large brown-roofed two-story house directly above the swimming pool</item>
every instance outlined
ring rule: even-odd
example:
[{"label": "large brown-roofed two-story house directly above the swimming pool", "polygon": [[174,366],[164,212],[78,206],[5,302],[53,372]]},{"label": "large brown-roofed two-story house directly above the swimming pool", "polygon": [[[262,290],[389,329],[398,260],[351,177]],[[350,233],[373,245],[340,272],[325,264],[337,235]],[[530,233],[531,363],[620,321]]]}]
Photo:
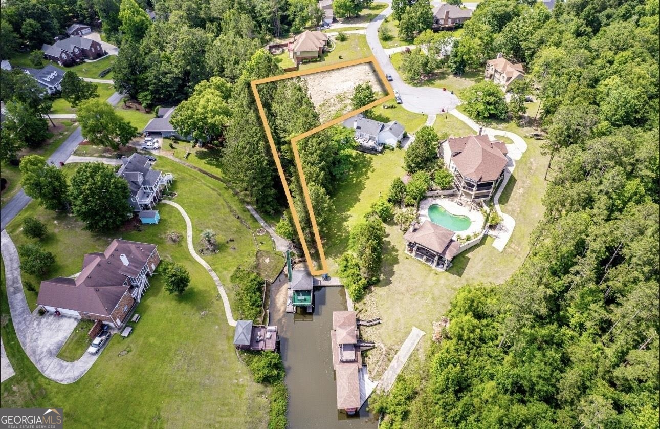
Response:
[{"label": "large brown-roofed two-story house directly above the swimming pool", "polygon": [[473,200],[488,199],[496,191],[508,162],[504,142],[488,135],[450,137],[438,146],[438,156],[454,176],[459,195]]}]

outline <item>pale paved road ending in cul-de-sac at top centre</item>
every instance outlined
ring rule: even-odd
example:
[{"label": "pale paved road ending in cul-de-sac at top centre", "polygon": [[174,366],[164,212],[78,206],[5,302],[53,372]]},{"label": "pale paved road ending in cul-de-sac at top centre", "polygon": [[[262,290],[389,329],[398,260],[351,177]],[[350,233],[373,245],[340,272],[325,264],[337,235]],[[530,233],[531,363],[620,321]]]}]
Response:
[{"label": "pale paved road ending in cul-de-sac at top centre", "polygon": [[438,88],[419,88],[410,86],[403,82],[396,69],[389,60],[389,55],[383,49],[378,40],[378,27],[383,23],[385,17],[392,13],[391,0],[386,0],[390,5],[380,15],[376,16],[367,26],[367,42],[371,47],[376,61],[380,67],[392,75],[392,87],[398,90],[403,100],[403,107],[411,112],[430,115],[442,112],[442,109],[453,109],[459,104],[458,98],[449,91]]}]

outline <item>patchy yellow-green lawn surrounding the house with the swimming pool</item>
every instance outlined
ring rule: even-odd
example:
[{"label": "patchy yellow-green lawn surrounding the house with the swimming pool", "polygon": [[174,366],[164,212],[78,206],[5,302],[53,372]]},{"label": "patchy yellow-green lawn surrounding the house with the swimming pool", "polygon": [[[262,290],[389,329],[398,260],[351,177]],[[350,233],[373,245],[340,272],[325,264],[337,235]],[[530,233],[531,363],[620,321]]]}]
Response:
[{"label": "patchy yellow-green lawn surrounding the house with the swimming pool", "polygon": [[[447,122],[438,116],[434,128],[439,133],[457,135],[474,132],[451,115]],[[395,352],[413,326],[432,332],[432,321],[440,319],[446,312],[460,286],[472,282],[501,283],[519,267],[529,250],[529,234],[543,216],[541,200],[546,187],[543,174],[547,158],[541,154],[539,142],[527,139],[527,143],[529,149],[516,162],[513,176],[500,199],[502,210],[516,220],[513,236],[501,253],[492,247],[493,239],[487,238],[479,246],[456,257],[449,272],[440,273],[409,257],[403,250],[403,231],[398,225],[387,225],[382,280],[362,302],[356,304],[356,310],[364,311],[367,319],[387,317],[388,326],[396,329],[369,328],[365,337],[381,341],[388,353]],[[374,201],[387,193],[389,183],[395,177],[404,174],[402,150],[388,150],[378,156],[356,154],[355,158],[352,175],[339,185],[333,196],[337,216],[325,244],[331,273],[336,272],[335,261],[345,251],[350,226],[369,211]],[[425,340],[424,344],[428,341]],[[378,358],[380,354],[374,356]]]}]

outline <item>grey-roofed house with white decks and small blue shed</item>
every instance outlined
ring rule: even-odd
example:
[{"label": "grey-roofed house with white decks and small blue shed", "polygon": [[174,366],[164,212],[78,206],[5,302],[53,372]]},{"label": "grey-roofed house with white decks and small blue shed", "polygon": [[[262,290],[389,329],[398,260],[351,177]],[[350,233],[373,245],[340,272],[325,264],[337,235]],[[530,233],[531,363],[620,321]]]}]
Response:
[{"label": "grey-roofed house with white decks and small blue shed", "polygon": [[[133,211],[139,215],[144,211],[149,212],[147,217],[139,216],[143,223],[157,223],[160,216],[152,213],[154,206],[160,201],[163,190],[172,184],[174,174],[152,170],[149,158],[139,153],[134,153],[129,158],[122,157],[116,174],[128,182],[131,191],[129,204]],[[151,218],[155,218],[155,222],[147,220]]]}]

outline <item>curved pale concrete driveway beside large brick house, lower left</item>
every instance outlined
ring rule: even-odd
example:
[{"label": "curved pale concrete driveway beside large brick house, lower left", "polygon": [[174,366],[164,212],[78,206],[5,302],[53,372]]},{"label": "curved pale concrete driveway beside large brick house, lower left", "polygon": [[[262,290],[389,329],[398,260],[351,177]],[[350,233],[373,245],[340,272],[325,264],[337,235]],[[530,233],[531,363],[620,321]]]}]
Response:
[{"label": "curved pale concrete driveway beside large brick house, lower left", "polygon": [[65,362],[57,358],[59,349],[67,341],[80,318],[64,315],[57,317],[53,314],[33,315],[28,308],[20,281],[18,252],[7,230],[0,233],[0,252],[5,263],[11,321],[20,346],[34,366],[50,380],[63,384],[79,380],[96,362],[103,350],[97,354],[89,354],[81,350],[82,357],[75,362]]}]

